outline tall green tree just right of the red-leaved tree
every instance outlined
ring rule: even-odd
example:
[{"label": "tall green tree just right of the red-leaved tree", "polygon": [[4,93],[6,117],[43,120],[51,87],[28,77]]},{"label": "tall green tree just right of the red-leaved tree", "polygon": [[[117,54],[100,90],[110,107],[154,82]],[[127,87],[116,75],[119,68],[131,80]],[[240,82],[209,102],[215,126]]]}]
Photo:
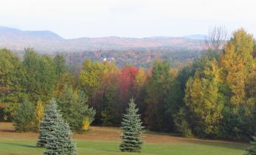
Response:
[{"label": "tall green tree just right of the red-leaved tree", "polygon": [[[147,82],[147,111],[145,122],[149,129],[170,131],[172,114],[178,111],[177,100],[181,95],[180,87],[175,80],[175,72],[167,61],[156,61],[151,78]],[[181,101],[181,99],[179,99]]]}]

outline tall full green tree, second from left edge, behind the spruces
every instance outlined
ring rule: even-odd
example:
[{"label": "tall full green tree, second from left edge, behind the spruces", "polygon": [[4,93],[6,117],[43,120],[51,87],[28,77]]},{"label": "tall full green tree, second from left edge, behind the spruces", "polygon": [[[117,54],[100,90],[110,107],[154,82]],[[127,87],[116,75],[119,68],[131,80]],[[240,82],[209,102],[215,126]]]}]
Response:
[{"label": "tall full green tree, second from left edge, behind the spruces", "polygon": [[26,82],[23,84],[31,101],[47,101],[56,83],[54,60],[50,56],[40,56],[32,49],[26,49],[23,60]]}]

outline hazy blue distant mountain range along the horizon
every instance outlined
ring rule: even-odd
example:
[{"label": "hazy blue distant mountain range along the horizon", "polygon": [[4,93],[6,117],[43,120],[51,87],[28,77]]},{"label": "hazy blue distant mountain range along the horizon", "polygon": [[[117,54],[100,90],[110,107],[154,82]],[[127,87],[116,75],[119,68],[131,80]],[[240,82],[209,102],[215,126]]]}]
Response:
[{"label": "hazy blue distant mountain range along the horizon", "polygon": [[22,31],[0,27],[0,48],[23,51],[32,47],[41,53],[76,52],[85,50],[129,50],[174,48],[177,50],[200,50],[205,35],[184,37],[157,36],[151,38],[72,38],[65,39],[51,31]]}]

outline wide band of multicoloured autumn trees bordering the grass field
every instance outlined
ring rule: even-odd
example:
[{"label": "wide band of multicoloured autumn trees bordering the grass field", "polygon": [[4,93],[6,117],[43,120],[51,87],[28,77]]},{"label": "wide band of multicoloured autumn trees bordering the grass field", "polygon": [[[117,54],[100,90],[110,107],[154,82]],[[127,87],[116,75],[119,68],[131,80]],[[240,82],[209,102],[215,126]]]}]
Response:
[{"label": "wide band of multicoloured autumn trees bordering the grass field", "polygon": [[[152,131],[249,141],[256,131],[255,47],[253,36],[239,29],[221,50],[209,47],[199,57],[185,52],[193,59],[180,67],[168,55],[154,57],[153,64],[116,65],[79,53],[68,62],[65,54],[40,55],[29,48],[20,59],[2,49],[0,119],[12,121],[17,131],[36,132],[54,98],[72,131],[82,132],[91,123],[120,126],[133,98],[143,126]],[[74,71],[81,58],[81,69]]]}]

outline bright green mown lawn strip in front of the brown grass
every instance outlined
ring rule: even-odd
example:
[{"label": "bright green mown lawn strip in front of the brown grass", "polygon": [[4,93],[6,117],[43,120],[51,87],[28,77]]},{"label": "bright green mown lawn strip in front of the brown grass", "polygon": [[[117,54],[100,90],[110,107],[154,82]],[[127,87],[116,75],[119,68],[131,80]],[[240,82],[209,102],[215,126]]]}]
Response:
[{"label": "bright green mown lawn strip in front of the brown grass", "polygon": [[[79,140],[76,142],[79,154],[133,154],[120,152],[119,142],[117,141]],[[242,155],[243,148],[244,147],[235,144],[145,144],[140,154]],[[35,147],[35,139],[0,138],[0,154],[42,154],[43,151],[44,149]]]}]

